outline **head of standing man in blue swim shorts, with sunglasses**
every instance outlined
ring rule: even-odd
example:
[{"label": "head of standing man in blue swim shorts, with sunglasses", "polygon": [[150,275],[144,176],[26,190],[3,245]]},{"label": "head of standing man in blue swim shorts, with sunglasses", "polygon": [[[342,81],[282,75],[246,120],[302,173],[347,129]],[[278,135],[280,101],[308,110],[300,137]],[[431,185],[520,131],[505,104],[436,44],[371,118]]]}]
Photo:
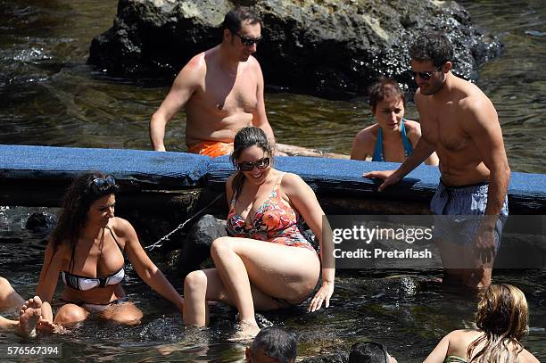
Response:
[{"label": "head of standing man in blue swim shorts, with sunglasses", "polygon": [[409,45],[411,70],[421,94],[433,95],[442,89],[451,70],[453,46],[439,33],[426,33]]}]

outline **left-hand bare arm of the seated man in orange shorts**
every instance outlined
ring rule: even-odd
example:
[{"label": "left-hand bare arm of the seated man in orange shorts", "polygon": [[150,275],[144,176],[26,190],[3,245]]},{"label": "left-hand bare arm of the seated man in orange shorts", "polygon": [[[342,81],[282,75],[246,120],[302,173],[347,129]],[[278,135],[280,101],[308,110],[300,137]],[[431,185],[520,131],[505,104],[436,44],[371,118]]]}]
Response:
[{"label": "left-hand bare arm of the seated man in orange shorts", "polygon": [[203,54],[198,54],[180,70],[172,87],[170,87],[169,94],[161,103],[160,108],[153,113],[152,120],[150,120],[150,139],[153,150],[165,151],[165,145],[163,144],[165,127],[174,115],[186,105],[195,89],[197,89],[200,79],[203,78],[201,75],[204,71],[202,62],[204,62]]}]

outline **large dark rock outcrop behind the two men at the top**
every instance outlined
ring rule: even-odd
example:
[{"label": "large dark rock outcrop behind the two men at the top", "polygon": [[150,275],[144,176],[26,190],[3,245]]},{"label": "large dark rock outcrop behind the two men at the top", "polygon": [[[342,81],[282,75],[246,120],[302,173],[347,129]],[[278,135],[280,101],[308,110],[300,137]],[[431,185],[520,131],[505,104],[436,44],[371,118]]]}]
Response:
[{"label": "large dark rock outcrop behind the two men at the top", "polygon": [[476,79],[477,68],[501,50],[454,1],[120,0],[112,29],[93,39],[89,62],[112,75],[170,82],[191,56],[219,44],[234,4],[261,12],[256,57],[266,85],[294,92],[360,95],[380,75],[412,84],[407,48],[422,31],[450,37],[464,78]]}]

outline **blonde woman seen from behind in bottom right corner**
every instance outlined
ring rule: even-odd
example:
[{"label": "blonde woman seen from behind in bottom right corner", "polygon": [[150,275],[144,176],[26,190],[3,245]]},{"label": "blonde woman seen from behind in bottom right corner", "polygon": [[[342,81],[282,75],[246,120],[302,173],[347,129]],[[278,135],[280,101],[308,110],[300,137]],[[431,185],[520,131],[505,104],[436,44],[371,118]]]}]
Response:
[{"label": "blonde woman seen from behind in bottom right corner", "polygon": [[478,303],[477,329],[445,335],[424,363],[538,363],[519,342],[527,332],[528,318],[521,290],[507,284],[490,285]]}]

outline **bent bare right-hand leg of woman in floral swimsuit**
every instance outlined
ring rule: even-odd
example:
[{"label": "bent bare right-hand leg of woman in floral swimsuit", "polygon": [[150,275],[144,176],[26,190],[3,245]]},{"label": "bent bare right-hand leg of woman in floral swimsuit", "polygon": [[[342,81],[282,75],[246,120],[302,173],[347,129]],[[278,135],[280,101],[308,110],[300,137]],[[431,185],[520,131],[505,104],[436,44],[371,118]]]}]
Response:
[{"label": "bent bare right-hand leg of woman in floral swimsuit", "polygon": [[220,237],[211,257],[240,322],[256,330],[251,283],[261,292],[289,302],[303,301],[317,285],[318,256],[302,247],[247,238]]}]

